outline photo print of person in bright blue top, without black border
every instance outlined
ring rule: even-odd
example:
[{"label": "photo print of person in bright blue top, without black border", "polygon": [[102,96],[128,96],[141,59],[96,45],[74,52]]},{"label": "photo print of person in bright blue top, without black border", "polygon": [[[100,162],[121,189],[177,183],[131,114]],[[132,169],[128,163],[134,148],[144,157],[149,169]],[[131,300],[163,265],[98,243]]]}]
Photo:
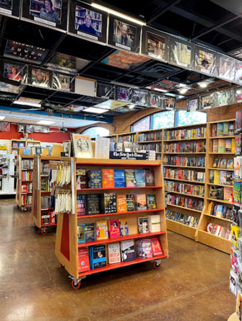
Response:
[{"label": "photo print of person in bright blue top, without black border", "polygon": [[76,6],[75,29],[101,37],[102,15],[95,11]]}]

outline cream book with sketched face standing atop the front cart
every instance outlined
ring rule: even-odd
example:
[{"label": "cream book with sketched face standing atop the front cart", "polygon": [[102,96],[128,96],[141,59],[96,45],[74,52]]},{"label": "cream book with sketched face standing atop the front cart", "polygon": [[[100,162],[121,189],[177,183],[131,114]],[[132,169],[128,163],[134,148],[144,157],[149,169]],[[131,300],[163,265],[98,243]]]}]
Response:
[{"label": "cream book with sketched face standing atop the front cart", "polygon": [[89,135],[71,134],[74,157],[93,158],[92,141]]}]

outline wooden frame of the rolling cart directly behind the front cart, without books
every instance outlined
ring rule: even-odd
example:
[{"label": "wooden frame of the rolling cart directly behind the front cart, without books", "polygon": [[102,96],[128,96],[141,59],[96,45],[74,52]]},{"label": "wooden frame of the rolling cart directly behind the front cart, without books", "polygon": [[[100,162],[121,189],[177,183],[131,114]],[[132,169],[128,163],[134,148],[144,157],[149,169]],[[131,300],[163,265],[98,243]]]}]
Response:
[{"label": "wooden frame of the rolling cart directly behind the front cart, without books", "polygon": [[[42,216],[48,216],[54,211],[49,207],[51,188],[48,184],[48,169],[50,161],[60,161],[61,157],[41,156],[33,157],[33,176],[32,176],[32,220],[43,235],[47,234],[48,227],[56,226],[56,223],[43,223]],[[44,183],[44,184],[43,184]],[[44,188],[43,188],[44,186]],[[47,189],[47,190],[43,190]]]}]

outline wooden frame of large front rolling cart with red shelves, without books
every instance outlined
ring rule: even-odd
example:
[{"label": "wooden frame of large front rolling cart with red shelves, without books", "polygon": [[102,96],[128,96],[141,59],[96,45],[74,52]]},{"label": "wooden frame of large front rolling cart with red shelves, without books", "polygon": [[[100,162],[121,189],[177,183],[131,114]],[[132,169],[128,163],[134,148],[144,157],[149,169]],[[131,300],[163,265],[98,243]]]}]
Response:
[{"label": "wooden frame of large front rolling cart with red shelves, without books", "polygon": [[[82,159],[82,158],[66,158],[65,161],[71,162],[71,193],[72,193],[72,213],[59,213],[57,223],[57,234],[55,244],[55,254],[62,266],[70,274],[72,279],[72,286],[79,288],[81,286],[81,279],[87,275],[98,273],[116,268],[125,267],[146,261],[154,261],[154,267],[159,268],[161,259],[168,257],[167,235],[166,235],[166,222],[164,211],[164,194],[163,194],[163,176],[162,165],[160,161],[132,161],[132,160],[112,160],[112,159]],[[76,170],[77,169],[153,169],[155,177],[155,186],[151,187],[119,187],[119,188],[85,188],[77,190],[76,188]],[[156,209],[143,210],[143,211],[129,211],[126,213],[112,213],[112,214],[98,214],[98,215],[84,215],[78,216],[77,214],[77,196],[87,194],[98,194],[104,192],[115,192],[116,195],[123,194],[154,194],[156,199]],[[138,233],[137,218],[148,216],[149,214],[160,215],[161,232],[157,233]],[[78,243],[78,224],[92,223],[96,221],[113,220],[127,218],[129,221],[129,236],[116,237],[103,240],[96,240],[93,242]],[[158,237],[161,242],[163,255],[153,256],[151,258],[139,259],[134,261],[120,262],[114,264],[106,264],[105,267],[98,269],[91,269],[85,272],[79,272],[79,249],[87,248],[92,245],[105,245],[106,253],[107,246],[121,240],[145,239]],[[137,257],[137,256],[136,256]]]}]

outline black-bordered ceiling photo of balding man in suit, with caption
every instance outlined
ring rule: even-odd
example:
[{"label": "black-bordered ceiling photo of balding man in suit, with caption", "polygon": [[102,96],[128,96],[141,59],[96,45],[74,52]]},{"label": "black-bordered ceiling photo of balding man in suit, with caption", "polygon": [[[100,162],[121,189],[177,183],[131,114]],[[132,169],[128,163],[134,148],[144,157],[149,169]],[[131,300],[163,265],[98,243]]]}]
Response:
[{"label": "black-bordered ceiling photo of balding man in suit, with caption", "polygon": [[108,44],[122,50],[139,53],[141,26],[126,19],[109,15]]}]

